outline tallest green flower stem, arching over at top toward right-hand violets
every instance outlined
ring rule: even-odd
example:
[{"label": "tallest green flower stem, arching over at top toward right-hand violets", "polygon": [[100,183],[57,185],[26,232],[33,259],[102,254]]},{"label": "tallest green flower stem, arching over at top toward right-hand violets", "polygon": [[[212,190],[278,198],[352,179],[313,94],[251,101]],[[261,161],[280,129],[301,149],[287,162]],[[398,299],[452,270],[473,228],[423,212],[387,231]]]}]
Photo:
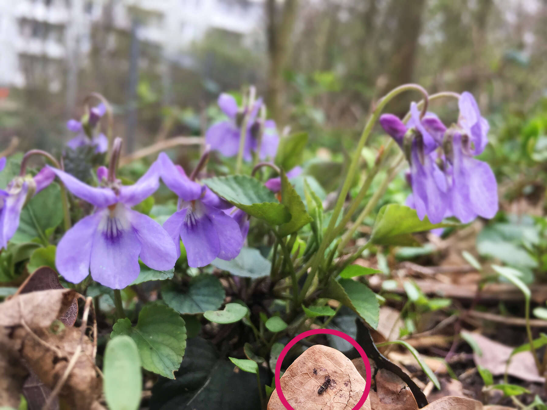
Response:
[{"label": "tallest green flower stem, arching over at top toward right-hand violets", "polygon": [[[380,118],[380,114],[382,113],[383,109],[387,106],[389,101],[391,101],[394,97],[398,96],[400,93],[403,93],[405,91],[419,91],[424,96],[424,101],[428,100],[427,91],[421,85],[418,85],[418,84],[401,85],[389,91],[384,97],[382,97],[382,99],[380,99],[376,108],[373,111],[373,114],[370,116],[369,120],[366,122],[366,125],[361,134],[361,137],[359,138],[359,142],[357,143],[357,147],[354,151],[354,154],[350,163],[350,167],[348,168],[348,171],[346,173],[344,184],[342,185],[342,189],[340,190],[340,194],[338,195],[336,205],[333,209],[333,214],[330,217],[329,225],[327,227],[327,232],[333,231],[334,226],[336,224],[336,220],[338,219],[338,216],[340,215],[340,212],[342,211],[342,207],[344,206],[346,195],[351,188],[353,175],[355,175],[355,173],[357,172],[357,167],[359,165],[359,158],[361,155],[361,151],[363,150],[363,147],[365,146],[365,143],[368,140],[368,137],[370,136],[370,133],[372,132],[374,125],[376,124],[376,121]],[[426,110],[427,110],[427,104],[423,103],[422,115],[426,113]],[[332,241],[332,238],[330,237],[330,235],[328,237],[325,236],[323,238],[323,241],[321,242],[321,245],[319,245],[319,249],[315,257],[313,258],[312,272],[311,272],[312,275],[315,275],[319,262],[323,259],[324,252],[331,241]],[[304,289],[304,291],[307,291],[307,289]]]}]

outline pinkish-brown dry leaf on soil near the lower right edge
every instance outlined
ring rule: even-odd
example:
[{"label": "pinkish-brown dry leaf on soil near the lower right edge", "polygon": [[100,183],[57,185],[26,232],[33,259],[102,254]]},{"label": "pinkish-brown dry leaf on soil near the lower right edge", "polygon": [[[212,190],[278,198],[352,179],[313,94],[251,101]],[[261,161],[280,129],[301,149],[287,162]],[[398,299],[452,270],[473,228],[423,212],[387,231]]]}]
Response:
[{"label": "pinkish-brown dry leaf on soil near the lower right edge", "polygon": [[[509,359],[514,348],[495,342],[479,333],[470,333],[470,336],[475,339],[475,342],[482,350],[482,356],[476,353],[473,354],[475,364],[487,368],[494,376],[504,374],[507,359]],[[528,351],[513,356],[508,368],[508,374],[528,382],[543,383],[545,380],[539,376],[534,356]]]}]

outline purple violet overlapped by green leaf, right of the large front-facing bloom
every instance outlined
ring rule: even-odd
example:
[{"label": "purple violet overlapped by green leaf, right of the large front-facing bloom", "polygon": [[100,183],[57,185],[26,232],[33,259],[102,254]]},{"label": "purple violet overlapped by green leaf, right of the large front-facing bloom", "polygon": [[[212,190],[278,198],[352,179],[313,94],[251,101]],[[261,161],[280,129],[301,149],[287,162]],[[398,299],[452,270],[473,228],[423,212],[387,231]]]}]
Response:
[{"label": "purple violet overlapped by green leaf, right of the large front-facing bloom", "polygon": [[179,238],[186,248],[188,265],[206,266],[216,257],[231,260],[243,244],[238,222],[222,209],[231,205],[205,186],[190,180],[182,167],[176,167],[165,153],[158,156],[161,179],[178,195],[178,211],[165,221],[180,256]]}]

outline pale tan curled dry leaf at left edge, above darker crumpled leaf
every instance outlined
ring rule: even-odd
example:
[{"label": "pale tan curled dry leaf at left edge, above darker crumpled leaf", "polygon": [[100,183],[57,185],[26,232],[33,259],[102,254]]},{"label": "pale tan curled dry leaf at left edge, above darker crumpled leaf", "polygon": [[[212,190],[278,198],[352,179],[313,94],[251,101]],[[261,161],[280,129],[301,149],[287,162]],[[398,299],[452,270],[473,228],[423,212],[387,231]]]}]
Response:
[{"label": "pale tan curled dry leaf at left edge, above darker crumpled leaf", "polygon": [[73,289],[40,290],[11,297],[0,303],[0,326],[47,327],[72,306]]}]

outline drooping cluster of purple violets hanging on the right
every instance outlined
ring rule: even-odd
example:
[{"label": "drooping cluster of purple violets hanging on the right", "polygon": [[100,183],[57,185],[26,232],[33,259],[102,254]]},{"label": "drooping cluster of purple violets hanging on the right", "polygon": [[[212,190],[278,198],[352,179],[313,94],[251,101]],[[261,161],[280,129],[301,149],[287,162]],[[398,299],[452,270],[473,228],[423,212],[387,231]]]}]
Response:
[{"label": "drooping cluster of purple violets hanging on the right", "polygon": [[488,143],[488,121],[469,92],[459,97],[458,107],[458,124],[450,130],[433,113],[420,120],[415,103],[406,126],[395,115],[380,117],[380,124],[401,149],[414,128],[414,135],[408,135],[412,138],[408,153],[412,194],[406,203],[420,219],[427,214],[434,224],[449,216],[463,223],[476,216],[493,218],[498,210],[496,177],[486,162],[473,158]]}]

